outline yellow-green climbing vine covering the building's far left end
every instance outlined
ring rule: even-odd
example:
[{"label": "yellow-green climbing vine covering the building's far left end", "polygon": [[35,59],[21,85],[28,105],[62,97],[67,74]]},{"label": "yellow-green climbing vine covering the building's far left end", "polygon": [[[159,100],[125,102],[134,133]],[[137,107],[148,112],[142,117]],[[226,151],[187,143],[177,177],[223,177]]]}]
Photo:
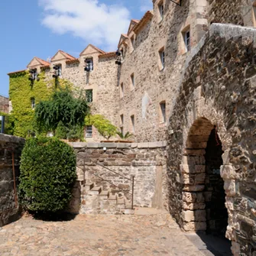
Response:
[{"label": "yellow-green climbing vine covering the building's far left end", "polygon": [[43,100],[50,99],[55,89],[71,86],[63,79],[46,80],[45,72],[39,74],[39,79],[30,81],[28,71],[10,74],[9,96],[12,105],[11,116],[13,120],[13,133],[23,138],[34,133],[34,109],[35,105]]}]

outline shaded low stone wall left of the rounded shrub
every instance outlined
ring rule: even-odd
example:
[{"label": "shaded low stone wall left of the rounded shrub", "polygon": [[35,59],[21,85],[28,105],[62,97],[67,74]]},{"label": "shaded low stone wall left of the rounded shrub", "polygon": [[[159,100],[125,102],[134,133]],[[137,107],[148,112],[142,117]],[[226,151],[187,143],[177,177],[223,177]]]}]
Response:
[{"label": "shaded low stone wall left of the rounded shrub", "polygon": [[23,146],[23,138],[0,134],[0,226],[19,216],[16,188]]}]

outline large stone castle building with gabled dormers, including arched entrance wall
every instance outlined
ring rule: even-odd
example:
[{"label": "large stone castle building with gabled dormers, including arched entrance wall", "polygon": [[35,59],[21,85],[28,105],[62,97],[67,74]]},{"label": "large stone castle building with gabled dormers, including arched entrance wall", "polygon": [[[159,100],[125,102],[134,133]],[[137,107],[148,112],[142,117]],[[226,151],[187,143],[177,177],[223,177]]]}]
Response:
[{"label": "large stone castle building with gabled dormers, including arched entrance wall", "polygon": [[[180,226],[225,232],[233,254],[255,255],[256,2],[153,7],[131,20],[117,53],[89,44],[79,58],[34,57],[28,70],[86,89],[92,113],[134,142],[166,141],[164,203]],[[102,140],[91,127],[86,137]]]}]

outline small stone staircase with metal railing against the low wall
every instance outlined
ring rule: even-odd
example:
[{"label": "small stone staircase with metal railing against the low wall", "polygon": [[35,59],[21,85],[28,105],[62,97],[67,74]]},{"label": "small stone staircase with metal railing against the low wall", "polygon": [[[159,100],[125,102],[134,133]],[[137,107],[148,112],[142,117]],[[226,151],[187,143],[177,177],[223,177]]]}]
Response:
[{"label": "small stone staircase with metal railing against the low wall", "polygon": [[95,183],[81,183],[80,214],[134,214],[131,202]]}]

